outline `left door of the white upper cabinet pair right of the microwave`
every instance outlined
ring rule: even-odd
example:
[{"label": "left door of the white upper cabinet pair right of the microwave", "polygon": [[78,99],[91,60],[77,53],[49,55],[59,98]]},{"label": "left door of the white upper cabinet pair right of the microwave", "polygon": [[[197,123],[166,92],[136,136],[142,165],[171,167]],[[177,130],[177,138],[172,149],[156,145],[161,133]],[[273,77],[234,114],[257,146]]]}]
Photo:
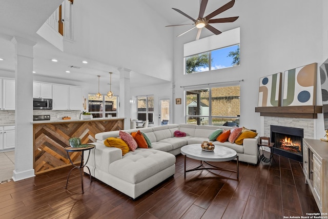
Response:
[{"label": "left door of the white upper cabinet pair right of the microwave", "polygon": [[68,109],[68,85],[52,85],[52,109]]}]

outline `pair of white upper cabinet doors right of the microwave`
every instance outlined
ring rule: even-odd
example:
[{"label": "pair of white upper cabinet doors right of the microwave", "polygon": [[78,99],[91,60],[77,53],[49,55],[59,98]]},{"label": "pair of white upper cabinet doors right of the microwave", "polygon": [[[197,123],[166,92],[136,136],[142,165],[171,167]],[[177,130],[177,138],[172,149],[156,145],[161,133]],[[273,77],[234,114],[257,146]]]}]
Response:
[{"label": "pair of white upper cabinet doors right of the microwave", "polygon": [[53,110],[81,110],[82,88],[69,85],[52,85]]}]

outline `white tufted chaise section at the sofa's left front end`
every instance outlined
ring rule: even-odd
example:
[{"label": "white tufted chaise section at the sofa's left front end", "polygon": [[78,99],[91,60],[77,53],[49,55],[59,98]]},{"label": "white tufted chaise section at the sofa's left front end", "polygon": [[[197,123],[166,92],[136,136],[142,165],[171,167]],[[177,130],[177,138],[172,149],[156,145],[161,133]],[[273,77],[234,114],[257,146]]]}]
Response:
[{"label": "white tufted chaise section at the sofa's left front end", "polygon": [[[121,150],[118,148],[95,144],[96,148],[91,151],[87,164],[91,175],[101,178],[102,182],[132,198],[147,192],[175,173],[176,158],[173,154],[154,149],[137,148],[135,151],[121,156]],[[121,156],[119,159],[112,156],[117,150],[119,153],[116,154]],[[99,153],[103,155],[103,158],[94,159],[94,154]],[[111,156],[106,154],[111,154]],[[106,158],[104,159],[104,157]],[[85,172],[88,173],[86,170]]]}]

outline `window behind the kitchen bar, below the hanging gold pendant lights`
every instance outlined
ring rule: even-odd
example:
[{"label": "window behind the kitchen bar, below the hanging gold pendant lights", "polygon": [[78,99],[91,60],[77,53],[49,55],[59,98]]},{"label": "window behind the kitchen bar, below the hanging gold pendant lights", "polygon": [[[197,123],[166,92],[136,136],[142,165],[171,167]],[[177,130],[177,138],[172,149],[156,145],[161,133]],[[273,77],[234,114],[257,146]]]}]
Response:
[{"label": "window behind the kitchen bar, below the hanging gold pendant lights", "polygon": [[[98,99],[95,94],[89,94],[89,112],[93,118],[117,117],[117,96]],[[105,107],[104,107],[105,106]]]}]

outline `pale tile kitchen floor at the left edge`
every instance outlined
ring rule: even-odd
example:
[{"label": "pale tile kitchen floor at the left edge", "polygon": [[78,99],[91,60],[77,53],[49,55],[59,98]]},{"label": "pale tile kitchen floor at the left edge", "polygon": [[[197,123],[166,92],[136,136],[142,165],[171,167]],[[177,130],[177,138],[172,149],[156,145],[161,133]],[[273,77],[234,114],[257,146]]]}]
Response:
[{"label": "pale tile kitchen floor at the left edge", "polygon": [[13,170],[15,169],[15,151],[0,153],[0,183],[12,180]]}]

